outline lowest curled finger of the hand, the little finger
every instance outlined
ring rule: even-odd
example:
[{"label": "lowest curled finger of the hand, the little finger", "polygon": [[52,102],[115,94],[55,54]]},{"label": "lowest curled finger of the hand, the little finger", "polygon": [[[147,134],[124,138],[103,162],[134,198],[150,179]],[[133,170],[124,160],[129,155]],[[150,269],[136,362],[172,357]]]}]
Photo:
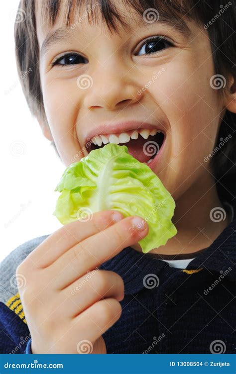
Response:
[{"label": "lowest curled finger of the hand, the little finger", "polygon": [[72,339],[76,342],[88,340],[94,343],[118,321],[120,315],[121,305],[117,300],[100,300],[72,319]]}]

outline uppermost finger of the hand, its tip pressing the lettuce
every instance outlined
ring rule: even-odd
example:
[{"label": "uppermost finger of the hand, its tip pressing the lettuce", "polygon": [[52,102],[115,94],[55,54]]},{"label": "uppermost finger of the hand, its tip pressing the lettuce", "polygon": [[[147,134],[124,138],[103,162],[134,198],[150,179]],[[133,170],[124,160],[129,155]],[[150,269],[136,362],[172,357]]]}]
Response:
[{"label": "uppermost finger of the hand, its tip pressing the lettuce", "polygon": [[46,268],[70,248],[107,227],[110,227],[123,215],[115,210],[94,213],[86,222],[71,222],[50,235],[27,257],[37,267]]}]

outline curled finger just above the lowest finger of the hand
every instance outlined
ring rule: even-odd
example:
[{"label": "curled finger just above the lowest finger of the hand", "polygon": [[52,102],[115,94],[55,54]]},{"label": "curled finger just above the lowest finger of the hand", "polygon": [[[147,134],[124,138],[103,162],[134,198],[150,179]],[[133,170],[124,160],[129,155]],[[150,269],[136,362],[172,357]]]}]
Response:
[{"label": "curled finger just above the lowest finger of the hand", "polygon": [[[110,271],[93,270],[61,291],[61,303],[66,305],[64,317],[75,317],[103,298],[123,299],[122,278]],[[63,301],[64,300],[64,301]]]}]

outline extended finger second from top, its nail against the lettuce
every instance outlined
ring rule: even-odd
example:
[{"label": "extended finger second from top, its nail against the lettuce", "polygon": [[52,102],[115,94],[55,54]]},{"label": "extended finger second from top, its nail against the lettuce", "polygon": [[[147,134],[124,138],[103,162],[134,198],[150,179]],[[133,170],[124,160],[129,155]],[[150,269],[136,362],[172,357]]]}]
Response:
[{"label": "extended finger second from top, its nail against the lettuce", "polygon": [[142,218],[124,218],[64,253],[50,266],[50,277],[55,278],[61,289],[65,288],[87,271],[116,256],[123,248],[137,243],[147,232],[148,225]]}]

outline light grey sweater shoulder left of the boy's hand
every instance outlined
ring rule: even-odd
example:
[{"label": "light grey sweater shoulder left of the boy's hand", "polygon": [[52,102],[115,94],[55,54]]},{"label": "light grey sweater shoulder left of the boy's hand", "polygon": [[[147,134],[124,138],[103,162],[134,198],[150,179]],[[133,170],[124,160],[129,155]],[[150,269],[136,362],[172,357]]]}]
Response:
[{"label": "light grey sweater shoulder left of the boy's hand", "polygon": [[0,302],[8,306],[18,294],[15,271],[17,266],[32,252],[48,235],[31,239],[9,253],[0,263]]}]

